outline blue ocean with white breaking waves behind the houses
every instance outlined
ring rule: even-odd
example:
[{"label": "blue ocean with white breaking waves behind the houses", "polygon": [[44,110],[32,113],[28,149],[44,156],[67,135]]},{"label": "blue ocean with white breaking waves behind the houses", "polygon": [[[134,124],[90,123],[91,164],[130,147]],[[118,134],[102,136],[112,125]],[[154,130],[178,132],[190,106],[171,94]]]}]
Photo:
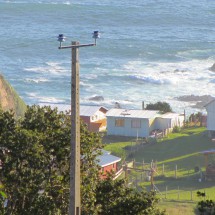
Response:
[{"label": "blue ocean with white breaking waves behind the houses", "polygon": [[[180,96],[215,96],[213,0],[0,0],[0,73],[29,104],[70,104],[71,50],[79,50],[80,103],[141,109]],[[92,100],[99,96],[103,101]]]}]

